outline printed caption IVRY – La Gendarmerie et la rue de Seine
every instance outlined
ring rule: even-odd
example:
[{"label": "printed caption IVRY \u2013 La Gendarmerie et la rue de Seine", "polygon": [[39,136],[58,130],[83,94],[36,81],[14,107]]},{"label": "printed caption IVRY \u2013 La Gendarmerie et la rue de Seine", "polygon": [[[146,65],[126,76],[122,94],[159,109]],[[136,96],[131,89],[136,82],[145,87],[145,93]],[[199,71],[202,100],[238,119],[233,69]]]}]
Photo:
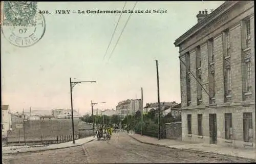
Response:
[{"label": "printed caption IVRY \u2013 La Gendarmerie et la rue de Seine", "polygon": [[167,13],[167,10],[55,10],[55,14],[70,14],[70,13],[77,13],[77,14],[118,14],[118,13]]}]

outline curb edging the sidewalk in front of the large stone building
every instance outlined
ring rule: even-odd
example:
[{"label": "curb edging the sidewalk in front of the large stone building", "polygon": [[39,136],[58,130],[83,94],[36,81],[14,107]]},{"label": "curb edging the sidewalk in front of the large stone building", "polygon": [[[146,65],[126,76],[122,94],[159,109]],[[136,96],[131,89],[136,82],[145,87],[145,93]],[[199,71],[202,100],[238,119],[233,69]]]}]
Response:
[{"label": "curb edging the sidewalk in front of the large stone building", "polygon": [[[129,135],[129,134],[127,134],[127,135]],[[216,154],[216,155],[221,155],[221,156],[226,156],[226,157],[241,158],[241,159],[249,159],[249,160],[256,161],[255,159],[252,159],[252,158],[238,157],[238,156],[233,156],[233,155],[220,154],[220,153],[214,153],[214,152],[206,152],[206,151],[200,151],[200,150],[191,150],[191,149],[184,149],[184,148],[172,148],[172,147],[168,147],[168,146],[166,146],[166,145],[146,143],[146,142],[142,142],[141,140],[135,138],[135,137],[132,136],[132,135],[129,135],[129,136],[130,136],[131,138],[137,140],[138,142],[140,142],[140,143],[142,143],[142,144],[147,144],[147,145],[155,145],[155,146],[165,147],[165,148],[169,148],[169,149],[177,149],[177,150],[183,150],[183,151],[188,151],[188,152],[196,152],[196,153]]]}]

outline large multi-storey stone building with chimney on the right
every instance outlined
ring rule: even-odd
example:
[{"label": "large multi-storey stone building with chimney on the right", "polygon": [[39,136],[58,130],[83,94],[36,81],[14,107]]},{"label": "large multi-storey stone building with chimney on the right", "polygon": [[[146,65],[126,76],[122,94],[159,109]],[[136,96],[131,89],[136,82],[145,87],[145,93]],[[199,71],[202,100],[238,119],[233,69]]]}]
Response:
[{"label": "large multi-storey stone building with chimney on the right", "polygon": [[254,2],[226,1],[175,41],[182,140],[255,148]]}]

